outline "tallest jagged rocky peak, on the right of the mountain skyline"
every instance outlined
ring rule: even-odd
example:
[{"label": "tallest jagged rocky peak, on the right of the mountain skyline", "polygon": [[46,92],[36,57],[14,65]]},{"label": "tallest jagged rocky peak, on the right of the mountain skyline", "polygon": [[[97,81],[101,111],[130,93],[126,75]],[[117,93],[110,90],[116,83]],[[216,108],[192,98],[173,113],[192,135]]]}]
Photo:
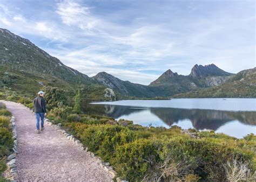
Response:
[{"label": "tallest jagged rocky peak, on the right of the mountain skyline", "polygon": [[191,69],[189,76],[191,77],[200,77],[200,76],[228,76],[231,73],[225,72],[214,64],[210,65],[194,65]]}]

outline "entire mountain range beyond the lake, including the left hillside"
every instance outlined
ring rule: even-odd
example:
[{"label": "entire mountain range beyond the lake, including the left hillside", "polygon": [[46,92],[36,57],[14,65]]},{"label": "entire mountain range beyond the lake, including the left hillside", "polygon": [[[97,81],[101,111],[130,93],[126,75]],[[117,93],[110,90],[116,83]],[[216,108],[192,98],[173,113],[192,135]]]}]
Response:
[{"label": "entire mountain range beyond the lake, including the left hillside", "polygon": [[117,99],[256,97],[255,68],[232,74],[214,64],[194,65],[189,75],[169,69],[148,86],[123,81],[106,72],[90,78],[6,29],[0,29],[0,65],[0,89],[7,86],[20,93],[33,94],[42,86],[55,86],[83,88],[89,100],[104,100],[105,88],[111,88]]}]

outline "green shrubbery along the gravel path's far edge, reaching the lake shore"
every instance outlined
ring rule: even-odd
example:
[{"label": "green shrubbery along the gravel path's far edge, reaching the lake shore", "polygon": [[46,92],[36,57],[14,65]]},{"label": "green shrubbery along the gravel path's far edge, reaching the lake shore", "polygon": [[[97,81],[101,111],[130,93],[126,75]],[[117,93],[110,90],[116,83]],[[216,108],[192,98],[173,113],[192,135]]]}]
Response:
[{"label": "green shrubbery along the gravel path's far edge, reaching the lake shore", "polygon": [[[109,162],[126,180],[250,181],[255,177],[253,134],[238,139],[214,131],[183,130],[175,125],[170,129],[142,127],[128,120],[80,114],[82,92],[68,95],[53,87],[45,87],[44,91],[47,117],[56,124],[62,123],[65,130]],[[12,94],[1,93],[1,99],[32,107],[31,99]],[[241,175],[235,176],[238,172]]]}]

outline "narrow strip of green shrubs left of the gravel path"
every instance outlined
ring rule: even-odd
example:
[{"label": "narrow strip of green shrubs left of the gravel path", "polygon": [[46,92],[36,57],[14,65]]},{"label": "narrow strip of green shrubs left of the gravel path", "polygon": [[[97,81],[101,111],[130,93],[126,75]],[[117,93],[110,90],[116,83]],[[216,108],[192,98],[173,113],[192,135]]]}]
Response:
[{"label": "narrow strip of green shrubs left of the gravel path", "polygon": [[2,178],[2,172],[6,170],[6,156],[9,155],[10,149],[13,145],[12,133],[10,128],[10,116],[11,113],[6,110],[5,105],[0,105],[0,181],[4,181]]}]

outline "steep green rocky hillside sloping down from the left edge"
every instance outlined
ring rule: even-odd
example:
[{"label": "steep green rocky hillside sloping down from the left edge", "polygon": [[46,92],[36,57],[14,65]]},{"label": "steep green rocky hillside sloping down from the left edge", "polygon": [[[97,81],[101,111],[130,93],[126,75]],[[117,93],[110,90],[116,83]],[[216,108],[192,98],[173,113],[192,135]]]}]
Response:
[{"label": "steep green rocky hillside sloping down from the left edge", "polygon": [[0,29],[0,65],[0,88],[24,95],[34,95],[43,86],[86,88],[89,97],[98,93],[95,99],[104,95],[104,86],[6,29]]}]

